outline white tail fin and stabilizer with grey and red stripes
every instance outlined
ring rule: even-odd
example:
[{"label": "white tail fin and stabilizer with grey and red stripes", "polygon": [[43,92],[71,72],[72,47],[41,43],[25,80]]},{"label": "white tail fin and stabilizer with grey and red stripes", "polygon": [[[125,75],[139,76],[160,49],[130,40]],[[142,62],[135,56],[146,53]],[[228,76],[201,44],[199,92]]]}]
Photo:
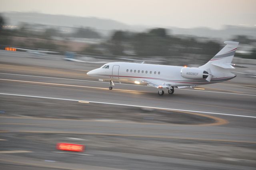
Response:
[{"label": "white tail fin and stabilizer with grey and red stripes", "polygon": [[208,61],[203,66],[200,66],[200,69],[204,69],[209,73],[209,76],[206,78],[210,82],[214,74],[230,73],[230,69],[234,68],[232,66],[232,60],[239,42],[225,41],[226,46],[220,50],[210,61]]}]

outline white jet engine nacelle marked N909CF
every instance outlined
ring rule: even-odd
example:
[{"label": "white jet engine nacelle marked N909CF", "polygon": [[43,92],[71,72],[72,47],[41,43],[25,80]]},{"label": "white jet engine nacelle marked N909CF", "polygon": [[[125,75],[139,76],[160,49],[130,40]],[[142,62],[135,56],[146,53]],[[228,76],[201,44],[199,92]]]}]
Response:
[{"label": "white jet engine nacelle marked N909CF", "polygon": [[209,75],[207,71],[198,68],[182,68],[180,73],[182,77],[190,79],[207,78]]}]

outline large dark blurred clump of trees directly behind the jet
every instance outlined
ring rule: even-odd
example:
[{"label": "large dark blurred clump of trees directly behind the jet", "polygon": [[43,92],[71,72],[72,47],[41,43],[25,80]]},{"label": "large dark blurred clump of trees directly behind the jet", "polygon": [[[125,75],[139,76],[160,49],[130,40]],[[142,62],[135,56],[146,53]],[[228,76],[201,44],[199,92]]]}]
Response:
[{"label": "large dark blurred clump of trees directly behind the jet", "polygon": [[164,28],[140,33],[116,31],[108,43],[108,49],[114,55],[124,55],[127,45],[138,56],[179,56],[186,53],[213,55],[220,50],[218,42],[198,42],[195,38],[170,36]]}]

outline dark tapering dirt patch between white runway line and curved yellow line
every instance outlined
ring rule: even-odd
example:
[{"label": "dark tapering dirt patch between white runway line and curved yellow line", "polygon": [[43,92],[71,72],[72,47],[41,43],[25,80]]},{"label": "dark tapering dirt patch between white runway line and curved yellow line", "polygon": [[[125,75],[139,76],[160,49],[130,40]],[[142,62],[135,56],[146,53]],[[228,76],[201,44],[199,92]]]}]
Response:
[{"label": "dark tapering dirt patch between white runway line and curved yellow line", "polygon": [[78,120],[112,120],[171,124],[210,124],[214,118],[201,114],[174,112],[129,106],[115,106],[96,103],[2,96],[2,115],[32,116],[40,118],[63,118]]}]

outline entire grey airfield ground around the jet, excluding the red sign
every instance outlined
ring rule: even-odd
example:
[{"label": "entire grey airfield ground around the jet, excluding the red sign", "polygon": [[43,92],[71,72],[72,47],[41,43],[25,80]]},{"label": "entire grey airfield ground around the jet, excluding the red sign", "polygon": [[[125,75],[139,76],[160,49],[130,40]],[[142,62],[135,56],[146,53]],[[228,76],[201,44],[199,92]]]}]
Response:
[{"label": "entire grey airfield ground around the jet, excluding the red sign", "polygon": [[[86,76],[96,65],[26,56],[21,65],[18,57],[0,58],[0,143],[13,152],[0,152],[6,169],[256,166],[255,79],[158,96],[154,88],[118,82],[108,90],[107,82]],[[38,61],[43,67],[33,71]],[[87,156],[56,152],[56,142],[86,144]]]}]

